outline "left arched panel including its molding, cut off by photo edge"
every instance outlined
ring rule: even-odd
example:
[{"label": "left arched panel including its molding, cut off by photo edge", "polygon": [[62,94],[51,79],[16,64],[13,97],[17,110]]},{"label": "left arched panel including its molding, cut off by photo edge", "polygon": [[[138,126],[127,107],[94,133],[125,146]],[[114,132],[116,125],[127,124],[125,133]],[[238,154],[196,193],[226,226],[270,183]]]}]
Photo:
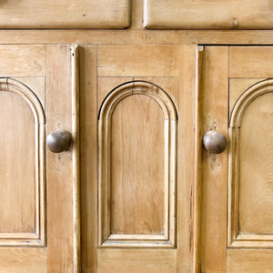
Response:
[{"label": "left arched panel including its molding, cut off by photo edge", "polygon": [[45,114],[13,78],[0,78],[0,126],[0,246],[44,246]]}]

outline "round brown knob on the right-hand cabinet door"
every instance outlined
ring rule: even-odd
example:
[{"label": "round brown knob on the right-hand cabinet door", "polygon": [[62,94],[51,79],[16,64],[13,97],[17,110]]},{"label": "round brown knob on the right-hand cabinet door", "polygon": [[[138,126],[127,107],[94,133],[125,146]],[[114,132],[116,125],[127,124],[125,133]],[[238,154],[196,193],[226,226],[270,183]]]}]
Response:
[{"label": "round brown knob on the right-hand cabinet door", "polygon": [[203,136],[203,146],[212,154],[220,154],[225,151],[227,147],[227,139],[224,135],[216,131],[208,131]]}]

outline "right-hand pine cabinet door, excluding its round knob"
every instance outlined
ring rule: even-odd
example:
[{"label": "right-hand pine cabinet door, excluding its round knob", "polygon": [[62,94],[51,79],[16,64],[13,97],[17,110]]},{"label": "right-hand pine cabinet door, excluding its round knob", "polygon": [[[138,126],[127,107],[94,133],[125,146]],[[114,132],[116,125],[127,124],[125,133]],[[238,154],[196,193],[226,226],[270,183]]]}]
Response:
[{"label": "right-hand pine cabinet door, excluding its round knob", "polygon": [[201,155],[204,272],[273,271],[272,60],[270,46],[204,50],[199,121],[203,134],[228,141],[223,153]]}]

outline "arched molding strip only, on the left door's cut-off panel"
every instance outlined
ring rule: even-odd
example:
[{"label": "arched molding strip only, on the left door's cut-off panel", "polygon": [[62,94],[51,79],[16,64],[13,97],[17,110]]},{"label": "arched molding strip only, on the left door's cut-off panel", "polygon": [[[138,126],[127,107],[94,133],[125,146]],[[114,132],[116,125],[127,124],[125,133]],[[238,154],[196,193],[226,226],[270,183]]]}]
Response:
[{"label": "arched molding strip only, on the left door's cut-off panel", "polygon": [[[10,77],[0,77],[0,92],[20,96],[35,119],[35,231],[33,233],[0,233],[0,246],[45,246],[45,112],[35,93]],[[22,144],[25,145],[25,144]]]}]

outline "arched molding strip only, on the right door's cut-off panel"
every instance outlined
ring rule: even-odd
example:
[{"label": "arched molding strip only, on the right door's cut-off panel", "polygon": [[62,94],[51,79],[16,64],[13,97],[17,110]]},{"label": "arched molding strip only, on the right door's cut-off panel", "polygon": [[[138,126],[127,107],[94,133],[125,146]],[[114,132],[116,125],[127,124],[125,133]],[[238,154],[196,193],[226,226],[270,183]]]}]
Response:
[{"label": "arched molding strip only, on the right door's cut-off panel", "polygon": [[[240,187],[240,135],[243,117],[254,100],[273,92],[273,80],[268,79],[251,86],[233,107],[228,128],[228,248],[272,248],[273,234],[247,234],[240,232],[239,187]],[[255,193],[253,193],[255,194]]]}]

